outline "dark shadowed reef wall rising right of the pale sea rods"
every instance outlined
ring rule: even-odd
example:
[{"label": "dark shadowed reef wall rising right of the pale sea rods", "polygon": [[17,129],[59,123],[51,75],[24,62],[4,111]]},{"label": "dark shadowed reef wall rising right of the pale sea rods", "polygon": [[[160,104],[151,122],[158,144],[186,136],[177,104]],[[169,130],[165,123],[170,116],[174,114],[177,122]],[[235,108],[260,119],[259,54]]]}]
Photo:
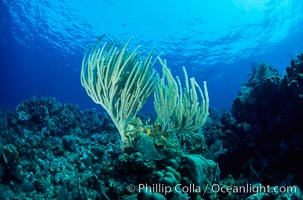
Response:
[{"label": "dark shadowed reef wall rising right of the pale sea rods", "polygon": [[228,152],[220,164],[263,184],[302,186],[302,119],[303,55],[283,77],[272,66],[256,65],[233,101],[232,116],[222,116]]}]

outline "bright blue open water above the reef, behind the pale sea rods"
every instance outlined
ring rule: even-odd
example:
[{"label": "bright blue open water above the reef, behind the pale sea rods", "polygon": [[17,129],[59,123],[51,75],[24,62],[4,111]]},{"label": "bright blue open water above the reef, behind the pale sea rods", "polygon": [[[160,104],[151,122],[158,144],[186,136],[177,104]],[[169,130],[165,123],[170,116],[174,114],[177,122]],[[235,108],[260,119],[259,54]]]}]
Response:
[{"label": "bright blue open water above the reef, behind the pale sea rods", "polygon": [[155,50],[174,75],[206,80],[211,107],[230,108],[251,64],[283,75],[303,52],[302,0],[0,0],[0,106],[51,96],[84,108],[84,51],[105,40]]}]

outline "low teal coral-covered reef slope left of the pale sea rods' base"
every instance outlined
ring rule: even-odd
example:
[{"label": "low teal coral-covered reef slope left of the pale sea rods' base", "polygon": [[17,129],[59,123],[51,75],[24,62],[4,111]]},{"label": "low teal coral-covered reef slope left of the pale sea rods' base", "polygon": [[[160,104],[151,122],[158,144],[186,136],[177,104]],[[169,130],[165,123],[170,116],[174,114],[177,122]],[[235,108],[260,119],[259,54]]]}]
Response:
[{"label": "low teal coral-covered reef slope left of the pale sea rods' base", "polygon": [[[93,110],[31,99],[6,117],[1,130],[0,199],[96,199],[117,135]],[[108,132],[107,132],[108,131]],[[114,155],[113,155],[114,154]],[[116,153],[118,154],[118,153]],[[14,198],[13,198],[14,197]]]}]

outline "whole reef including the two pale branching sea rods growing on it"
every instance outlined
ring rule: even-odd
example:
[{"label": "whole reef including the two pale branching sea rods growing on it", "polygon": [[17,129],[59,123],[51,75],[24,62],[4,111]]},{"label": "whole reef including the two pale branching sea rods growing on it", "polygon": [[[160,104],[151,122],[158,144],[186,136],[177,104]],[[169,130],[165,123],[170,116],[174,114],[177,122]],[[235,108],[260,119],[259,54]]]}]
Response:
[{"label": "whole reef including the two pale branching sea rods growing on it", "polygon": [[[255,65],[229,113],[185,67],[103,39],[80,76],[106,113],[54,98],[1,111],[0,199],[302,199],[302,54],[284,76]],[[156,116],[138,114],[151,95]]]}]

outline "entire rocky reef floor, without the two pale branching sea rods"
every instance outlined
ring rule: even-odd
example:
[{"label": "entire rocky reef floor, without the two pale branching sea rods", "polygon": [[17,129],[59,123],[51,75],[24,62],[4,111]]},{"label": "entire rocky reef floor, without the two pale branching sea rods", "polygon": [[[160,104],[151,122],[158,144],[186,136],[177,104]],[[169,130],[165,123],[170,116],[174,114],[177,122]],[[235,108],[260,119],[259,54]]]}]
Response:
[{"label": "entire rocky reef floor, without the two pale branching sea rods", "polygon": [[0,112],[0,199],[301,200],[302,97],[302,54],[284,76],[259,64],[231,113],[176,132],[133,118],[127,151],[105,113],[24,100]]}]

